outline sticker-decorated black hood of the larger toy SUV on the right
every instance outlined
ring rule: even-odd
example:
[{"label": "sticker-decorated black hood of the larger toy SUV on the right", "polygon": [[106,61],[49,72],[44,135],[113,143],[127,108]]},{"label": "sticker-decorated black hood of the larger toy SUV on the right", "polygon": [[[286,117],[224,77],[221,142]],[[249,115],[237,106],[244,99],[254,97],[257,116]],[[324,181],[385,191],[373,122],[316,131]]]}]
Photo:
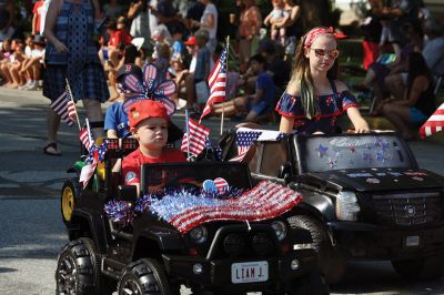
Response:
[{"label": "sticker-decorated black hood of the larger toy SUV on the right", "polygon": [[426,170],[360,169],[307,173],[306,176],[325,180],[346,190],[403,191],[444,187],[444,177]]}]

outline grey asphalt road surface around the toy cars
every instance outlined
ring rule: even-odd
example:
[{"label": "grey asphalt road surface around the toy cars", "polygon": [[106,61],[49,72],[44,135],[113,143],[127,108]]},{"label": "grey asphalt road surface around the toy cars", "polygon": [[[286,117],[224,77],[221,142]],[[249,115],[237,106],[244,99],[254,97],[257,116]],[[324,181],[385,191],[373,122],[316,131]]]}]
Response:
[{"label": "grey asphalt road surface around the toy cars", "polygon": [[[53,294],[56,260],[68,242],[59,194],[77,160],[75,128],[62,125],[62,156],[42,153],[48,101],[37,91],[0,88],[0,293]],[[81,118],[84,113],[80,110]],[[174,119],[183,124],[183,115]],[[214,133],[219,122],[205,122]],[[228,121],[225,126],[233,125]],[[269,126],[273,128],[273,126]],[[213,134],[214,136],[216,134]],[[444,145],[411,144],[422,167],[444,174]],[[350,263],[333,294],[444,294],[444,277],[406,282],[386,262]],[[188,291],[184,291],[186,294]]]}]

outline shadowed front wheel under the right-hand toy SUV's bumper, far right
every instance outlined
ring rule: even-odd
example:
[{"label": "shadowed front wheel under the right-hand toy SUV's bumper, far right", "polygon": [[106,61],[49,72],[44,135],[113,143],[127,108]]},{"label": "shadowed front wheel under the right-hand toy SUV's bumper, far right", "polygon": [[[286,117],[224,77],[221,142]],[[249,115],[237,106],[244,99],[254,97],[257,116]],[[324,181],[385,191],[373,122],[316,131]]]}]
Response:
[{"label": "shadowed front wheel under the right-hand toy SUV's bumper, far right", "polygon": [[392,261],[392,265],[400,276],[407,279],[436,278],[444,274],[444,258],[442,255]]}]

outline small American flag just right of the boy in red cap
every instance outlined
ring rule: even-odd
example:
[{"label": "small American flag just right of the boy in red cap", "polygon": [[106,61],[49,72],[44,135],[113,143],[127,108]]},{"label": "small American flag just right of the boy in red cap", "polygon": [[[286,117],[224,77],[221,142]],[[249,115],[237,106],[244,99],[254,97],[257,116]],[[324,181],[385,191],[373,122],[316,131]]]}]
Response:
[{"label": "small American flag just right of the boy in red cap", "polygon": [[188,120],[189,133],[183,134],[181,150],[190,152],[193,155],[199,155],[205,148],[210,130],[193,121],[191,118]]}]

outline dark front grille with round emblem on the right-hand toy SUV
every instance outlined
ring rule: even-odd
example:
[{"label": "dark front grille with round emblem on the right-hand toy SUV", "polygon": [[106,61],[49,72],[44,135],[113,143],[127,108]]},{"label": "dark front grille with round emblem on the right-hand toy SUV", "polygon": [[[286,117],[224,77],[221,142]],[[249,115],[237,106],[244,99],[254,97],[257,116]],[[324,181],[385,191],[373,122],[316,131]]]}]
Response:
[{"label": "dark front grille with round emblem on the right-hand toy SUV", "polygon": [[438,192],[373,195],[381,225],[425,225],[443,220],[444,200]]}]

